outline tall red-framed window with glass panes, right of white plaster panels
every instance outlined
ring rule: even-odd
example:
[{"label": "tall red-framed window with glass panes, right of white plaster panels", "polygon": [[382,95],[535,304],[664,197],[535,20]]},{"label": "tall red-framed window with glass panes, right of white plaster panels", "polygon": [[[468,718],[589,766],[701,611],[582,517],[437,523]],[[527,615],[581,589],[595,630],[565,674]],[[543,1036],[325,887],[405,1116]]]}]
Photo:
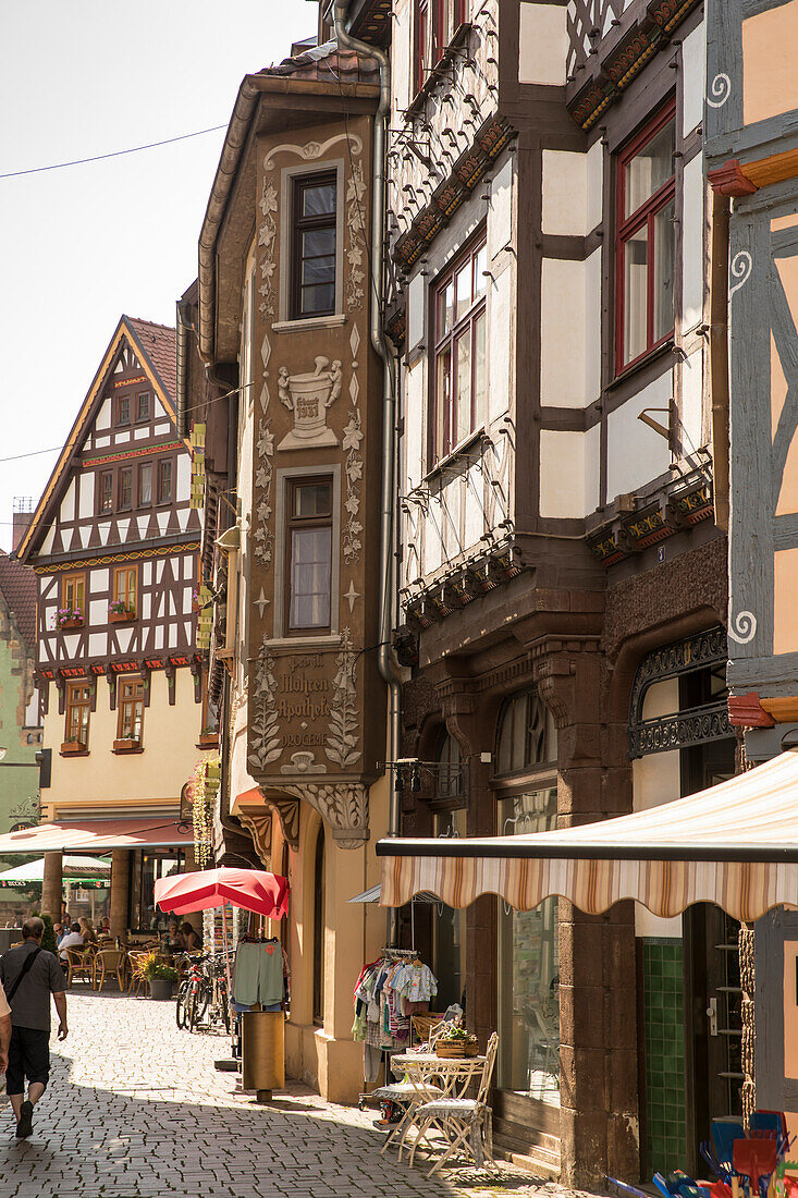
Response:
[{"label": "tall red-framed window with glass panes, right of white plaster panels", "polygon": [[673,332],[675,101],[616,161],[616,370]]}]

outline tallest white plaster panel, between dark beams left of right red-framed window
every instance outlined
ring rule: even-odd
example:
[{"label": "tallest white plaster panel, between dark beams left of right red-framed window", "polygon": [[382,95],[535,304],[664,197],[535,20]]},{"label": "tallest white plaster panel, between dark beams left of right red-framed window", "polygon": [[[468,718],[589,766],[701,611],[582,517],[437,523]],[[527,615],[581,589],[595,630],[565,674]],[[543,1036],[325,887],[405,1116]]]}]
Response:
[{"label": "tallest white plaster panel, between dark beams left of right red-framed window", "polygon": [[544,407],[585,406],[585,262],[543,259],[540,403]]}]

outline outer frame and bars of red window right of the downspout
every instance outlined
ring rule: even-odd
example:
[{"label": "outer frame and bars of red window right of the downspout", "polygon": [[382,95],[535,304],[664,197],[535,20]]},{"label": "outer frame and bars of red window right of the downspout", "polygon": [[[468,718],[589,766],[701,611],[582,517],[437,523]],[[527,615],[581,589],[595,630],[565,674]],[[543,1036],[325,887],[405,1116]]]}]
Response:
[{"label": "outer frame and bars of red window right of the downspout", "polygon": [[[448,458],[449,454],[455,453],[457,449],[458,449],[458,447],[460,444],[463,444],[464,442],[466,442],[467,440],[470,440],[484,425],[485,407],[486,407],[486,400],[488,400],[488,377],[489,377],[489,371],[488,371],[488,288],[485,286],[484,290],[482,291],[482,294],[479,296],[477,296],[476,300],[474,300],[474,291],[476,291],[476,272],[478,270],[479,255],[483,254],[483,252],[486,255],[486,247],[488,247],[486,231],[483,228],[479,231],[479,234],[472,238],[472,241],[463,250],[463,253],[458,254],[454,259],[452,259],[452,261],[447,265],[446,270],[439,276],[439,278],[435,280],[435,283],[434,283],[434,285],[431,288],[431,296],[430,296],[430,300],[431,300],[430,309],[431,309],[431,311],[430,311],[429,319],[430,319],[430,322],[431,322],[430,327],[431,327],[433,353],[431,353],[430,377],[429,377],[430,404],[429,404],[429,430],[428,430],[428,434],[429,434],[429,436],[428,436],[428,443],[429,443],[428,465],[429,465],[430,470],[433,470],[435,467],[436,462],[441,461],[445,458]],[[451,327],[445,333],[441,333],[441,331],[440,331],[440,303],[439,303],[440,297],[443,295],[443,292],[446,291],[446,289],[447,289],[447,286],[449,284],[454,285],[454,280],[457,279],[457,276],[463,271],[463,267],[468,261],[471,262],[471,302],[470,302],[470,305],[468,305],[467,310],[463,314],[463,316],[459,320],[454,319],[452,321]],[[485,265],[486,265],[486,256],[485,256]],[[457,303],[457,294],[454,296],[454,302]],[[483,410],[482,410],[480,413],[478,413],[477,410],[476,410],[477,389],[476,389],[476,386],[474,386],[474,383],[476,383],[476,370],[477,370],[477,355],[474,353],[474,328],[476,328],[477,321],[482,316],[484,316],[484,321],[485,321],[485,371],[484,371],[484,388],[485,388],[485,394],[484,394],[484,399],[483,399]],[[470,370],[471,370],[471,379],[470,379],[471,413],[470,413],[470,419],[468,419],[468,431],[464,436],[455,438],[453,436],[453,431],[452,431],[452,424],[453,423],[457,424],[457,405],[455,405],[455,388],[454,388],[455,373],[457,373],[455,346],[457,346],[457,343],[465,334],[466,328],[468,328],[470,341],[471,341],[471,346],[470,346],[470,353],[471,353],[471,367],[470,367]],[[439,363],[439,357],[443,352],[446,352],[447,347],[448,347],[449,359],[451,359],[449,361],[449,365],[448,365],[449,394],[448,394],[448,397],[446,399],[447,411],[445,413],[443,425],[441,428],[440,419],[439,419],[441,398],[440,398],[440,394],[439,394],[439,369],[437,369],[437,363]],[[457,432],[457,429],[455,429],[455,432]]]}]

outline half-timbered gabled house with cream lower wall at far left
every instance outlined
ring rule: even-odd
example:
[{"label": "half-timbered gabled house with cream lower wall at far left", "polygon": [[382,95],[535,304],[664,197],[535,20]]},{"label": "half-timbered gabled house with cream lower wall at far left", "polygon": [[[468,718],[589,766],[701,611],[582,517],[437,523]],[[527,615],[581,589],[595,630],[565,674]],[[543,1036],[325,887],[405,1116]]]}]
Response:
[{"label": "half-timbered gabled house with cream lower wall at far left", "polygon": [[213,724],[197,651],[199,518],[174,392],[174,328],[122,316],[17,547],[37,579],[52,751],[30,851],[54,851],[54,903],[58,849],[113,849],[117,934],[155,925],[155,878],[191,857],[181,789]]}]

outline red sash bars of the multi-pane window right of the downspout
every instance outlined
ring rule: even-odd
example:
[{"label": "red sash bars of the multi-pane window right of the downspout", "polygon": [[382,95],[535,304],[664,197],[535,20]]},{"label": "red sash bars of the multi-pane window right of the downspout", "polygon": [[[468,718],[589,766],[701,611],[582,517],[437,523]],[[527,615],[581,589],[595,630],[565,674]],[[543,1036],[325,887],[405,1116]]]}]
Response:
[{"label": "red sash bars of the multi-pane window right of the downspout", "polygon": [[[453,292],[454,303],[457,304],[457,278],[461,273],[465,266],[471,264],[471,298],[468,307],[463,313],[459,319],[457,317],[457,311],[448,328],[442,327],[442,305],[441,297],[445,295],[449,286],[454,286]],[[434,353],[431,358],[431,395],[433,403],[430,404],[430,446],[431,446],[431,460],[430,467],[434,466],[435,461],[441,458],[446,458],[447,454],[452,453],[453,449],[464,440],[464,436],[468,436],[474,432],[484,419],[484,403],[483,407],[479,409],[477,403],[477,355],[474,352],[476,346],[476,328],[479,317],[486,322],[486,294],[488,289],[483,282],[483,271],[486,266],[486,241],[484,235],[479,237],[478,241],[473,242],[472,246],[454,259],[451,266],[447,267],[446,272],[440,277],[435,288],[433,289],[433,341],[434,341]],[[488,387],[488,368],[486,368],[486,326],[485,328],[485,371],[484,371],[484,391],[486,393]],[[468,334],[471,338],[470,346],[470,418],[468,418],[468,430],[461,436],[458,436],[458,403],[457,403],[457,352],[455,347],[460,339]],[[448,365],[446,367],[448,391],[446,395],[440,393],[440,371],[439,371],[439,359],[448,353]],[[486,395],[485,395],[486,398]],[[441,410],[443,405],[443,410]]]}]

